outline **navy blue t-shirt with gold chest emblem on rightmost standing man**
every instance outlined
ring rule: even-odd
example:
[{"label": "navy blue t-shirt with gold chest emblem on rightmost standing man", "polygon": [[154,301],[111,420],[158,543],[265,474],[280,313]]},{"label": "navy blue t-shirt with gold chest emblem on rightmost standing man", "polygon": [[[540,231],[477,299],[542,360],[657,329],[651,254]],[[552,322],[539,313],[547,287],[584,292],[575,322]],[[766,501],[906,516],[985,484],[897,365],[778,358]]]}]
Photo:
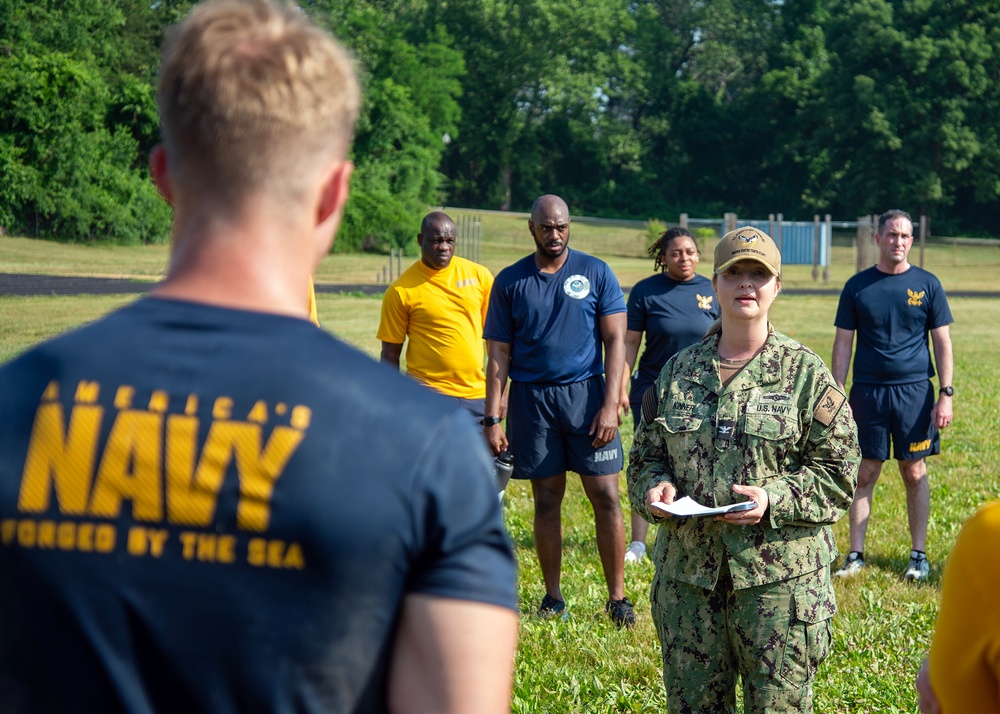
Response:
[{"label": "navy blue t-shirt with gold chest emblem on rightmost standing man", "polygon": [[913,265],[890,275],[871,267],[844,285],[834,325],[854,330],[854,382],[910,384],[934,376],[930,330],[953,322],[941,282]]}]

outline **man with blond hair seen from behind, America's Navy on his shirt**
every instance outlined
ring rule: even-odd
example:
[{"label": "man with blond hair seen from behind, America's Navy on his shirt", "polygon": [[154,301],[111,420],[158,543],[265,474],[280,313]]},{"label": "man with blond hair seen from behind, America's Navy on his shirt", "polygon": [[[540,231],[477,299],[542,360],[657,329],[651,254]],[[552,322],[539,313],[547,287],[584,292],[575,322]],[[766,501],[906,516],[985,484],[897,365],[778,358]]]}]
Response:
[{"label": "man with blond hair seen from behind, America's Navy on his shirt", "polygon": [[0,710],[509,712],[478,429],[307,319],[353,62],[294,7],[212,0],[157,99],[167,277],[0,368]]}]

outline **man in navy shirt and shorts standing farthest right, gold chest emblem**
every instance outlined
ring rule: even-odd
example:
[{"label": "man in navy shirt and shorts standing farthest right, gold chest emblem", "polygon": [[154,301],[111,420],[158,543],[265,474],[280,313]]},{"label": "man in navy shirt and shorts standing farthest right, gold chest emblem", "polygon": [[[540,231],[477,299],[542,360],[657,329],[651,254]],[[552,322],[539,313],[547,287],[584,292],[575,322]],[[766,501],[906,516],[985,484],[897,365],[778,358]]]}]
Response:
[{"label": "man in navy shirt and shorts standing farthest right, gold chest emblem", "polygon": [[[949,328],[953,320],[941,282],[907,260],[913,246],[909,214],[898,209],[883,213],[875,242],[878,263],[847,281],[834,321],[837,333],[831,371],[841,389],[857,334],[850,406],[862,456],[848,513],[851,549],[834,575],[849,577],[864,568],[875,482],[882,462],[895,458],[906,487],[912,546],[904,578],[919,582],[930,572],[925,552],[930,518],[925,458],[941,452],[940,430],[951,424],[953,414]],[[934,346],[933,364],[928,335]],[[937,398],[930,381],[934,364],[940,382]]]}]

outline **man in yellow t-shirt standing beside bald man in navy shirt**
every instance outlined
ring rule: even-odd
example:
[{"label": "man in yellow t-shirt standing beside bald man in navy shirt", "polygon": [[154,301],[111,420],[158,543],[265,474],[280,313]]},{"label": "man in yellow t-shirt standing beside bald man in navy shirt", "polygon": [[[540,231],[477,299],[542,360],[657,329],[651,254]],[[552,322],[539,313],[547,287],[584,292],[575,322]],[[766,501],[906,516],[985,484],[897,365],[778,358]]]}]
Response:
[{"label": "man in yellow t-shirt standing beside bald man in navy shirt", "polygon": [[483,323],[493,275],[455,256],[455,224],[447,214],[424,216],[417,234],[420,260],[389,286],[382,300],[381,361],[406,371],[483,418]]}]

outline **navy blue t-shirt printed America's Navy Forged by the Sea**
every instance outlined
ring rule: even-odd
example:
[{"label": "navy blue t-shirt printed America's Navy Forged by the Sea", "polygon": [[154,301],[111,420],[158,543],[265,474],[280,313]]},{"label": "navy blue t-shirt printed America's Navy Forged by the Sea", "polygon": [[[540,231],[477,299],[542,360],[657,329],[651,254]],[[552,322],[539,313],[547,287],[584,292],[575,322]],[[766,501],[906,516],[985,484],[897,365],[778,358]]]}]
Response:
[{"label": "navy blue t-shirt printed America's Navy Forged by the Sea", "polygon": [[383,712],[404,596],[515,608],[468,415],[147,298],[0,368],[0,709]]}]

